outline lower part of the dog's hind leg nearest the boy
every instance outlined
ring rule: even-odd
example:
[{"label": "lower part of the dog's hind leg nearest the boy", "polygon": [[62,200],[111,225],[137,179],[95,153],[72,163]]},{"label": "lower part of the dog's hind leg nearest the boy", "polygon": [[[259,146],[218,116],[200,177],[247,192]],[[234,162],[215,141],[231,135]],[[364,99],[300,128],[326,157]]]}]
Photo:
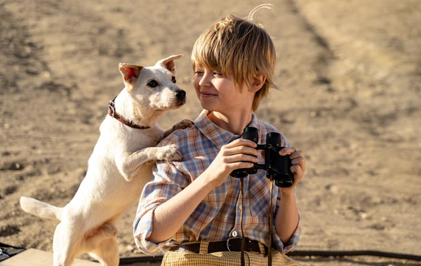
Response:
[{"label": "lower part of the dog's hind leg nearest the boy", "polygon": [[100,261],[102,266],[118,266],[119,265],[119,247],[117,246],[117,238],[112,237],[105,239],[100,246],[90,252],[93,258]]}]

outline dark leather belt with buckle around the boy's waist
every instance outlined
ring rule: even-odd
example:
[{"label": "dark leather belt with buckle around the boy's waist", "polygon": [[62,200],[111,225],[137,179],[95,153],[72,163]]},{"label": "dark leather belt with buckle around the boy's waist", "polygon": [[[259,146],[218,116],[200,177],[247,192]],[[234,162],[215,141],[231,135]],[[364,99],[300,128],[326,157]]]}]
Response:
[{"label": "dark leather belt with buckle around the boy's waist", "polygon": [[[192,251],[194,253],[199,253],[200,243],[181,244],[180,246],[172,247],[171,251]],[[220,251],[241,251],[241,237],[231,237],[227,240],[209,242],[208,253],[220,252]],[[259,242],[255,240],[250,240],[246,237],[246,243],[244,244],[244,251],[255,251],[255,252],[260,253]],[[265,246],[265,254],[267,254],[266,246]]]}]

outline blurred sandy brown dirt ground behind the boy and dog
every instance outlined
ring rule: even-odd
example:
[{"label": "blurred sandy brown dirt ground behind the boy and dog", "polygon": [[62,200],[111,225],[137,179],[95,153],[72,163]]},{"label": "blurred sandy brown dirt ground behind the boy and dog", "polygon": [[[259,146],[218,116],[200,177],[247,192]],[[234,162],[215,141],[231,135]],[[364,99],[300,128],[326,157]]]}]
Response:
[{"label": "blurred sandy brown dirt ground behind the boy and dog", "polygon": [[[161,127],[201,111],[190,52],[201,31],[261,1],[0,0],[0,241],[51,251],[57,221],[20,196],[72,198],[123,88],[119,62],[168,55],[188,103]],[[257,16],[273,37],[276,85],[258,118],[305,151],[297,190],[300,250],[421,255],[421,1],[276,0]],[[119,224],[122,257],[137,203]],[[301,258],[303,265],[415,265],[411,260]]]}]

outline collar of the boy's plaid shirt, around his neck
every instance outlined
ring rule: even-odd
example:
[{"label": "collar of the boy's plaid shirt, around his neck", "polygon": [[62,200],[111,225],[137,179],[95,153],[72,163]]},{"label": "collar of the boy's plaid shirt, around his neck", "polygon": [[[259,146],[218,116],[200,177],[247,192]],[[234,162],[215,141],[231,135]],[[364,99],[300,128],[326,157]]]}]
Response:
[{"label": "collar of the boy's plaid shirt, around his neck", "polygon": [[[218,125],[215,125],[212,121],[209,120],[208,114],[208,110],[203,110],[199,117],[194,121],[194,125],[196,125],[197,129],[199,129],[199,131],[218,149],[221,149],[222,146],[229,144],[229,142],[241,137],[218,127]],[[252,113],[251,122],[248,124],[248,127],[256,127],[259,130],[260,139],[260,123],[258,118],[255,116],[255,113]]]}]

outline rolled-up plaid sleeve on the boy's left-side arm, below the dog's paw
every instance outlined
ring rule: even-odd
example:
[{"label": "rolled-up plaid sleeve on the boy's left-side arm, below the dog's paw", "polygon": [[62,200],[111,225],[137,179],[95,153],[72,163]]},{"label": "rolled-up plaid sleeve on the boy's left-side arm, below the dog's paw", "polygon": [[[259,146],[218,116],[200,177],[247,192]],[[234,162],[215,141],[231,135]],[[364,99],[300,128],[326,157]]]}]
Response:
[{"label": "rolled-up plaid sleeve on the boy's left-side arm, below the dog's paw", "polygon": [[165,250],[170,239],[160,243],[149,241],[153,230],[154,211],[160,204],[177,195],[185,187],[182,173],[171,162],[156,162],[154,178],[145,185],[133,222],[133,236],[136,246],[148,255],[158,249]]}]

